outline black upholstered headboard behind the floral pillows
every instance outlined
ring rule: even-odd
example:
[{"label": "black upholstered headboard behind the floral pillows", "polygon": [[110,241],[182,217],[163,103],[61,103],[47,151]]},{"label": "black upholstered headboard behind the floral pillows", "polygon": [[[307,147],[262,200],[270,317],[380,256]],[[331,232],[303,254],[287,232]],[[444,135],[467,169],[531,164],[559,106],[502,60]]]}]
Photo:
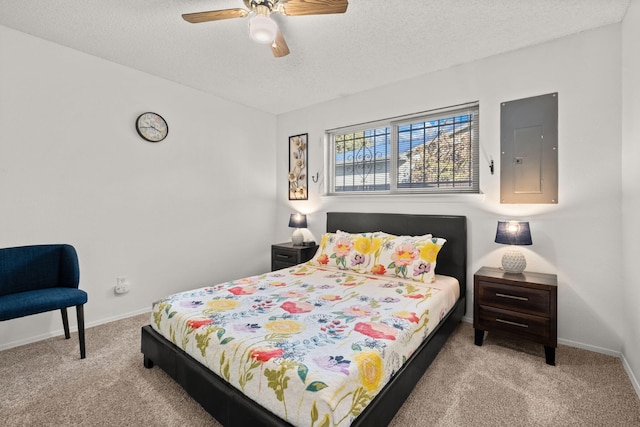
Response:
[{"label": "black upholstered headboard behind the floral pillows", "polygon": [[460,296],[467,288],[467,218],[457,215],[413,215],[397,213],[328,212],[327,232],[384,231],[402,236],[427,233],[447,239],[438,254],[437,274],[453,276],[460,282]]}]

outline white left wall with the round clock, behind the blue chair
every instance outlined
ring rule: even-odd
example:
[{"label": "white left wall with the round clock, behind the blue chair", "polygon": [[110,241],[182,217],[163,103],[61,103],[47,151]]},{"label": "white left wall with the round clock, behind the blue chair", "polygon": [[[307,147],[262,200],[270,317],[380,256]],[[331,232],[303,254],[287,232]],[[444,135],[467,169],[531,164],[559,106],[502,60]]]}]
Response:
[{"label": "white left wall with the round clock, behind the blue chair", "polygon": [[[88,324],[269,269],[275,116],[2,26],[0,94],[0,246],[73,244]],[[145,111],[166,140],[137,135]],[[0,348],[61,330],[0,322]]]}]

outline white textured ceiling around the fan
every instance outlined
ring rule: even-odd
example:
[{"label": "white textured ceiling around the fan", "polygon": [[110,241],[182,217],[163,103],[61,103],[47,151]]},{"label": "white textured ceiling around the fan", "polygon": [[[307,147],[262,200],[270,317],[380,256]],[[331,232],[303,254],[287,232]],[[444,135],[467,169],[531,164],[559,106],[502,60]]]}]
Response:
[{"label": "white textured ceiling around the fan", "polygon": [[242,0],[0,0],[0,25],[279,114],[620,22],[631,0],[349,0],[340,15],[275,15],[274,58],[248,18],[183,13]]}]

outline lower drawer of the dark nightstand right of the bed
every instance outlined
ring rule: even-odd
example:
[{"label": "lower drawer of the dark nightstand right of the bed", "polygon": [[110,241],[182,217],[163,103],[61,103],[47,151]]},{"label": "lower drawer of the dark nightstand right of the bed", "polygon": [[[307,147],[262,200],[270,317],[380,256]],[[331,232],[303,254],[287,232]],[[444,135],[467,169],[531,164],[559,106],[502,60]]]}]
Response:
[{"label": "lower drawer of the dark nightstand right of the bed", "polygon": [[478,328],[510,332],[542,344],[551,344],[549,342],[549,318],[484,305],[477,307]]}]

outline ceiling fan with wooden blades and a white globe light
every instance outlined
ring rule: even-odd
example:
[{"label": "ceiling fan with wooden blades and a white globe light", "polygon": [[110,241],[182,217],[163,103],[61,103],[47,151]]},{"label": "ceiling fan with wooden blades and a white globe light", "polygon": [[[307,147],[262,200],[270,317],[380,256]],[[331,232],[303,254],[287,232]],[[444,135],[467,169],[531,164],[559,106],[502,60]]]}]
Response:
[{"label": "ceiling fan with wooden blades and a white globe light", "polygon": [[348,0],[242,0],[249,9],[234,8],[211,10],[209,12],[186,13],[182,18],[198,24],[200,22],[219,21],[222,19],[244,18],[252,14],[249,19],[249,36],[258,43],[270,43],[271,51],[276,58],[287,56],[289,46],[278,28],[278,24],[271,19],[272,13],[285,16],[324,15],[330,13],[345,13]]}]

